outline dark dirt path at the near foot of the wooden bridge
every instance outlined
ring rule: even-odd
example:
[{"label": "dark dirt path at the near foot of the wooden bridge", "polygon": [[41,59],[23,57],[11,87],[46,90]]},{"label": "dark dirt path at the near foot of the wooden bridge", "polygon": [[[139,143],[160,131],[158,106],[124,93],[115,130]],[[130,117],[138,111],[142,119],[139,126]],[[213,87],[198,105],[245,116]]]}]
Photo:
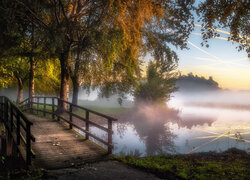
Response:
[{"label": "dark dirt path at the near foot of the wooden bridge", "polygon": [[129,167],[118,161],[102,161],[80,167],[50,170],[44,179],[60,180],[156,180],[155,175]]}]

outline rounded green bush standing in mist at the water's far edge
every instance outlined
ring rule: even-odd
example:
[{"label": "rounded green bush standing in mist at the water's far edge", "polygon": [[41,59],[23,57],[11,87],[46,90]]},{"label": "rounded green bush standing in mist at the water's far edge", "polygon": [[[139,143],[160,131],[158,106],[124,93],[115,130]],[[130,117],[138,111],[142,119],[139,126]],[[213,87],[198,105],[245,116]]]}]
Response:
[{"label": "rounded green bush standing in mist at the water's far edge", "polygon": [[178,73],[175,70],[176,64],[172,61],[149,62],[146,79],[139,83],[135,91],[135,101],[166,103],[170,94],[177,90],[175,82]]}]

